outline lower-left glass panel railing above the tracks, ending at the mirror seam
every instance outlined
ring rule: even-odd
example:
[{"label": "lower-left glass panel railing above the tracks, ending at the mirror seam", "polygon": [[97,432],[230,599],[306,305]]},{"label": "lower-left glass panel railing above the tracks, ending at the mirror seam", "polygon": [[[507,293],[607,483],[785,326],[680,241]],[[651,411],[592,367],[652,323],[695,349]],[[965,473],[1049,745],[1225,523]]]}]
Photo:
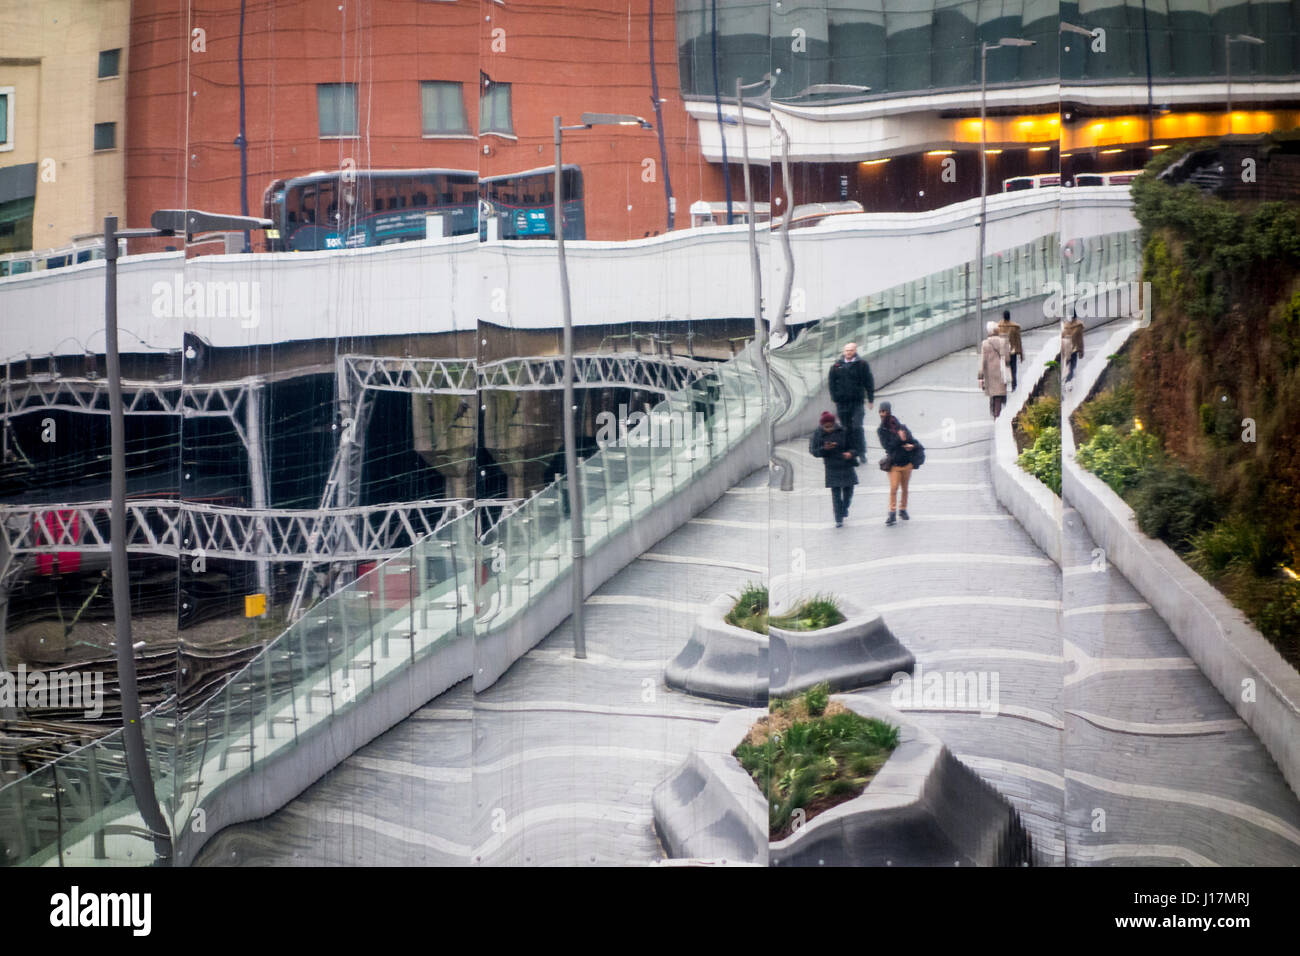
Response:
[{"label": "lower-left glass panel railing above the tracks, ending at the mirror seam", "polygon": [[[412,661],[468,640],[473,567],[473,515],[462,515],[308,610],[200,706],[146,714],[150,770],[172,832],[195,823],[224,786],[361,706]],[[5,865],[153,858],[120,731],[0,788]]]}]

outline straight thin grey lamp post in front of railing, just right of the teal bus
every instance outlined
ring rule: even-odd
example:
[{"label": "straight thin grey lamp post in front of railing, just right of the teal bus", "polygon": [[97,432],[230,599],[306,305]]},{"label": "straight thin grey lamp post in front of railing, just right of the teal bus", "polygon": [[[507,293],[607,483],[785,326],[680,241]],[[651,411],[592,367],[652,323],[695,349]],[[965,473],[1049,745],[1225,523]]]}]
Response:
[{"label": "straight thin grey lamp post in front of railing, just right of the teal bus", "polygon": [[569,535],[573,548],[573,657],[586,657],[586,631],[582,626],[582,558],[586,553],[586,528],[582,523],[582,488],[577,477],[577,429],[573,415],[577,406],[573,402],[573,310],[569,302],[568,263],[564,259],[564,200],[562,186],[564,181],[564,133],[589,130],[593,126],[640,126],[654,129],[640,116],[621,113],[582,113],[577,126],[563,126],[555,117],[555,250],[560,268],[560,304],[564,311],[564,476],[569,490]]}]

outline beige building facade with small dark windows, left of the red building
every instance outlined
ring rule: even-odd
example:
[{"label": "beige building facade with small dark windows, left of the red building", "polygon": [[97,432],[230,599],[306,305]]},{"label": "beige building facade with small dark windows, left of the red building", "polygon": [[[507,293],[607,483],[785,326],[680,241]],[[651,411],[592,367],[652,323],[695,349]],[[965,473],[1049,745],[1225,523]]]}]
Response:
[{"label": "beige building facade with small dark windows, left of the red building", "polygon": [[130,13],[0,0],[0,254],[62,248],[125,213]]}]

